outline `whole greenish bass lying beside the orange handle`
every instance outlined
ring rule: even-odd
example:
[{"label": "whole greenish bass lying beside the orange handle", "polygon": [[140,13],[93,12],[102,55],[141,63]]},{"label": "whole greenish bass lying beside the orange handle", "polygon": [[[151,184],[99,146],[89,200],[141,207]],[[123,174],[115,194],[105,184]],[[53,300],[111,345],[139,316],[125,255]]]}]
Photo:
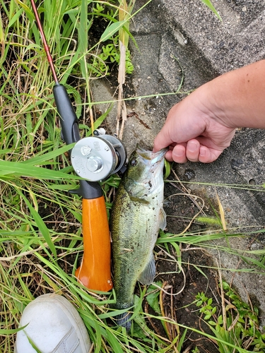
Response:
[{"label": "whole greenish bass lying beside the orange handle", "polygon": [[163,167],[167,148],[159,152],[136,145],[112,205],[110,233],[117,325],[128,331],[136,282],[151,285],[155,277],[153,248],[165,229]]}]

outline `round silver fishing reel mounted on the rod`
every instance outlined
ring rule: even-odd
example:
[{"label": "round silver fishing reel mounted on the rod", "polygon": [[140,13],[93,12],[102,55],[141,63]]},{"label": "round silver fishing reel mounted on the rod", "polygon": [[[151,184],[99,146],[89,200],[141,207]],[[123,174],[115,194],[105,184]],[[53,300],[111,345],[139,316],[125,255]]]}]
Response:
[{"label": "round silver fishing reel mounted on the rod", "polygon": [[79,177],[89,181],[102,181],[119,172],[126,163],[126,149],[122,142],[105,135],[102,128],[94,135],[78,140],[71,151],[71,164]]}]

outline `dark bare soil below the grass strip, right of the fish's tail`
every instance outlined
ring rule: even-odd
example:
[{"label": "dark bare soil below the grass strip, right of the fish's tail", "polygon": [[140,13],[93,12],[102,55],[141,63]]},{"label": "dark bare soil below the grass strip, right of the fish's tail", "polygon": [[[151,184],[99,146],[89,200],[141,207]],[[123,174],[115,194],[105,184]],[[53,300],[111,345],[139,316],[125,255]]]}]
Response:
[{"label": "dark bare soil below the grass strip, right of the fish's tail", "polygon": [[[182,328],[181,325],[184,325],[211,335],[211,330],[202,320],[198,307],[195,304],[192,304],[192,302],[198,292],[204,292],[206,297],[213,298],[213,304],[215,306],[219,306],[220,308],[220,303],[218,303],[215,299],[215,297],[220,297],[220,294],[218,294],[216,274],[211,270],[204,269],[203,275],[192,265],[193,263],[206,266],[210,265],[208,257],[202,251],[189,249],[182,250],[182,261],[185,263],[182,265],[182,270],[184,271],[184,275],[186,277],[185,285],[184,276],[182,273],[177,275],[164,274],[175,270],[173,264],[169,265],[170,262],[168,261],[168,258],[165,258],[165,260],[160,259],[157,263],[157,279],[162,281],[164,285],[166,284],[165,287],[167,287],[167,292],[177,293],[182,290],[180,294],[173,297],[168,294],[163,294],[164,311],[167,313],[168,317],[174,318],[180,325],[179,330],[181,334],[184,332],[184,328]],[[190,263],[191,265],[188,265],[187,263]],[[182,289],[183,285],[184,288]],[[155,321],[151,323],[153,329],[157,333],[160,335],[165,335],[165,330],[161,328],[160,323],[157,325],[155,325]],[[167,329],[169,331],[173,330],[173,327],[170,328],[170,324],[168,326],[169,327]],[[219,352],[217,347],[213,344],[213,342],[208,340],[208,338],[189,330],[187,332],[184,346],[182,347],[182,352],[184,352],[185,349],[188,349],[187,352],[192,352],[192,349],[195,347],[198,347],[200,352]]]}]

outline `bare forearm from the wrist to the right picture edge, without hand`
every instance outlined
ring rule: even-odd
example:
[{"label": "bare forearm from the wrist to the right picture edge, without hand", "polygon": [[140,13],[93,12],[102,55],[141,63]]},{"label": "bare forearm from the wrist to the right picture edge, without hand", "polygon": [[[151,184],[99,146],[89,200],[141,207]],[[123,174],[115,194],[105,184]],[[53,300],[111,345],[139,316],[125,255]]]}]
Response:
[{"label": "bare forearm from the wrist to the right picture edge, without hand", "polygon": [[225,73],[199,90],[201,101],[208,97],[213,119],[232,128],[265,128],[265,60]]}]

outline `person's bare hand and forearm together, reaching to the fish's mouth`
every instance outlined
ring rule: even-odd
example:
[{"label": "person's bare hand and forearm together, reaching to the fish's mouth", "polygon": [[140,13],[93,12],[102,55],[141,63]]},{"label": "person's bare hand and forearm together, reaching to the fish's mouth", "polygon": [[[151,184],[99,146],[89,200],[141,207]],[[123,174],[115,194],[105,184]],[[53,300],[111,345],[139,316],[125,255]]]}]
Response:
[{"label": "person's bare hand and forearm together, reaching to the fish's mouth", "polygon": [[175,104],[154,141],[154,151],[178,163],[213,162],[237,127],[265,128],[265,60],[225,73]]}]

